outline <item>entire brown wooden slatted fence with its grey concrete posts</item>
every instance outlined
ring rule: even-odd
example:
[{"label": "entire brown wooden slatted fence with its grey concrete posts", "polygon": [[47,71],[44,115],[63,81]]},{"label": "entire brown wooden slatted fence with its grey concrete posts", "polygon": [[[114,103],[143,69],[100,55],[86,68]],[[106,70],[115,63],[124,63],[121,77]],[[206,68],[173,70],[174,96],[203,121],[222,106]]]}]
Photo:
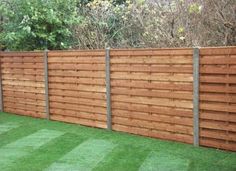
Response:
[{"label": "entire brown wooden slatted fence with its grey concrete posts", "polygon": [[199,51],[1,52],[2,111],[236,151],[236,47]]}]

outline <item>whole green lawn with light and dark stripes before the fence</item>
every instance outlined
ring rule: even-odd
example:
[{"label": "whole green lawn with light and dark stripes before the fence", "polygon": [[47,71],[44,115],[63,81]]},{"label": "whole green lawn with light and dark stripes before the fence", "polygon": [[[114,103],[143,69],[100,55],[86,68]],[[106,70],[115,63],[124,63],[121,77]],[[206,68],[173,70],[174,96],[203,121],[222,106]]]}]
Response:
[{"label": "whole green lawn with light and dark stripes before the fence", "polygon": [[0,113],[0,170],[236,171],[236,153]]}]

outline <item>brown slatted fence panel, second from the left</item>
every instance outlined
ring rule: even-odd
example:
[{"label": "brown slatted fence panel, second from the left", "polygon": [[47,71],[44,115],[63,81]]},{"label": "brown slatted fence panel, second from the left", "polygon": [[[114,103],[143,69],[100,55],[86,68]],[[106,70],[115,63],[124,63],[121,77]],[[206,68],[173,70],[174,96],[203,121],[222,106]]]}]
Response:
[{"label": "brown slatted fence panel, second from the left", "polygon": [[53,120],[106,128],[105,51],[49,51]]}]

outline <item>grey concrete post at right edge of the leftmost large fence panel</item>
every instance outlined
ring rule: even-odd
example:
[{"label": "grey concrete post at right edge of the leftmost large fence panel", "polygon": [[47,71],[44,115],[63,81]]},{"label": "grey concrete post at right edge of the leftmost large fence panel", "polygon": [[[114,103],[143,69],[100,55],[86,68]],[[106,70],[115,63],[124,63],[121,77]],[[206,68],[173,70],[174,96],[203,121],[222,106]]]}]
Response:
[{"label": "grey concrete post at right edge of the leftmost large fence panel", "polygon": [[45,113],[46,118],[50,119],[49,97],[48,97],[48,50],[44,51],[44,87],[45,87]]}]

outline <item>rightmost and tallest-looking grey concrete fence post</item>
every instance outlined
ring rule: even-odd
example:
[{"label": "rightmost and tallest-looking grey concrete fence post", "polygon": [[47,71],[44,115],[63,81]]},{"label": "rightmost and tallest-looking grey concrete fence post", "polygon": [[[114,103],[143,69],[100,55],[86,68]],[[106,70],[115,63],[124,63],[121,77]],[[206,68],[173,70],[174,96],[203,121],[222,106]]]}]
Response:
[{"label": "rightmost and tallest-looking grey concrete fence post", "polygon": [[199,146],[199,48],[193,49],[193,144]]}]

